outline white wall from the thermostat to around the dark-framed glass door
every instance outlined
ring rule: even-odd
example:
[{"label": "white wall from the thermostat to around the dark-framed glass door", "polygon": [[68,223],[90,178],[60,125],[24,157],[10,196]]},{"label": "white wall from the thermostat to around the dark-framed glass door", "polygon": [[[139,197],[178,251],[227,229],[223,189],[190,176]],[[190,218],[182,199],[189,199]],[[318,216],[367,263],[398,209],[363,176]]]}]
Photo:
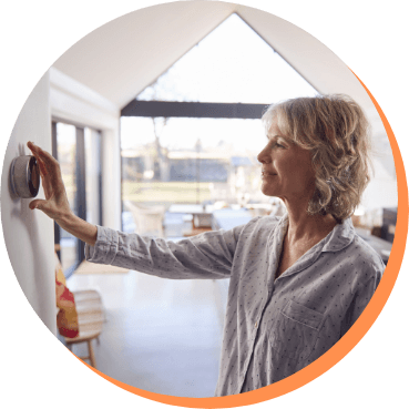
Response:
[{"label": "white wall from the thermostat to around the dark-framed glass door", "polygon": [[[28,96],[4,154],[0,205],[6,248],[19,285],[33,310],[57,336],[53,222],[30,211],[31,200],[9,192],[12,160],[30,154],[32,141],[51,152],[51,117],[102,131],[103,224],[121,228],[120,110],[89,88],[50,69]],[[42,186],[39,198],[44,198]]]}]

